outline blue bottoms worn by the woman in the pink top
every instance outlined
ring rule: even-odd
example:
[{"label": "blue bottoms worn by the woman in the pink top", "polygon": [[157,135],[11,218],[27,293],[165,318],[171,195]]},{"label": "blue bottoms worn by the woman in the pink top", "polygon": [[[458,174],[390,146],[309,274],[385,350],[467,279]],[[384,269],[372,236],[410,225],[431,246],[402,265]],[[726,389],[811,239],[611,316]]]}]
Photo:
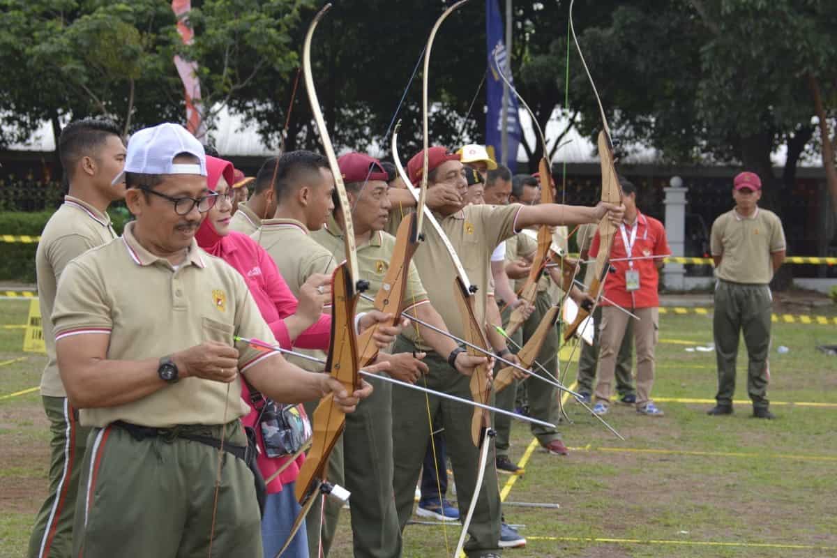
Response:
[{"label": "blue bottoms worn by the woman in the pink top", "polygon": [[[294,496],[295,483],[284,484],[282,491],[268,494],[264,503],[264,517],[262,518],[262,548],[264,556],[275,556],[285,540],[288,540],[290,529],[294,526],[296,516],[300,514],[300,504]],[[283,554],[285,558],[308,558],[308,537],[306,524],[302,523],[300,530],[294,535],[293,542]]]}]

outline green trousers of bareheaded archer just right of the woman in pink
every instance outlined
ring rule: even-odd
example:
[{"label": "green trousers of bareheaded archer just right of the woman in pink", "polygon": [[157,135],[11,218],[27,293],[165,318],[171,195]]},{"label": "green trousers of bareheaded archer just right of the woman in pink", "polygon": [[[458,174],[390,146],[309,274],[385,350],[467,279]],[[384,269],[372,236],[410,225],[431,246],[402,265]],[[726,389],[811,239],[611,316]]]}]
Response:
[{"label": "green trousers of bareheaded archer just right of the woman in pink", "polygon": [[[376,386],[377,387],[377,386]],[[314,410],[319,402],[303,403],[309,417],[314,416]],[[345,431],[344,431],[345,434]],[[328,458],[326,479],[331,484],[339,484],[346,487],[346,477],[343,475],[343,436],[337,439],[331,455]],[[340,520],[340,510],[343,504],[335,499],[326,498],[326,512],[323,514],[321,496],[311,506],[306,515],[306,535],[308,536],[308,554],[311,556],[327,556],[334,543],[334,535],[337,531],[337,522]],[[318,529],[319,527],[319,529]]]}]

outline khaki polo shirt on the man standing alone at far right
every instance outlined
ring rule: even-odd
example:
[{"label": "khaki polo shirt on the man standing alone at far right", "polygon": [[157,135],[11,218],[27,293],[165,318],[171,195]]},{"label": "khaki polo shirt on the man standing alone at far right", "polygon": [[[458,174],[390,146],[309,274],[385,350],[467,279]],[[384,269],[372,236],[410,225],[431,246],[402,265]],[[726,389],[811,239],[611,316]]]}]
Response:
[{"label": "khaki polo shirt on the man standing alone at far right", "polygon": [[716,269],[718,279],[768,284],[773,279],[770,254],[786,246],[782,220],[761,207],[749,218],[732,209],[712,223],[710,245],[713,256],[723,256]]}]

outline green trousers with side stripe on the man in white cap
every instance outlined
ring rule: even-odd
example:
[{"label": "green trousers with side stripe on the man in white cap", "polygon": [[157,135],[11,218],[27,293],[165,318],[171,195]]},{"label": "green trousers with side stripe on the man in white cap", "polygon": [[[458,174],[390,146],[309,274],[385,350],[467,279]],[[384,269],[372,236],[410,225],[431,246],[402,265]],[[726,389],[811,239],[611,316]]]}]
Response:
[{"label": "green trousers with side stripe on the man in white cap", "polygon": [[[216,439],[223,430],[225,444],[247,445],[239,420],[181,428]],[[242,459],[176,436],[137,440],[113,425],[92,428],[87,444],[74,556],[198,558],[210,540],[215,556],[262,555],[253,474]]]}]

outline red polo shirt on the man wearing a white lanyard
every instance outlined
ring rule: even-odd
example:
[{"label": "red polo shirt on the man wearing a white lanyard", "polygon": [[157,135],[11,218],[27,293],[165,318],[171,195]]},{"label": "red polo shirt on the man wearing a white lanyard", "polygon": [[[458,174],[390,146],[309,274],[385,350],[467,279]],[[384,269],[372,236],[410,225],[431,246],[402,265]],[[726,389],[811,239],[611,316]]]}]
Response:
[{"label": "red polo shirt on the man wearing a white lanyard", "polygon": [[[634,259],[642,256],[668,256],[671,253],[668,240],[665,238],[665,227],[653,217],[643,215],[637,211],[636,238],[631,253],[628,253],[624,242],[623,234],[616,229],[614,233],[613,248],[610,251],[610,259],[621,259],[619,262],[612,262],[616,273],[607,274],[604,282],[604,296],[613,302],[602,299],[599,304],[602,306],[616,305],[625,308],[652,308],[660,305],[660,298],[657,295],[657,285],[660,283],[660,275],[657,273],[657,264],[660,259]],[[632,228],[625,225],[624,233],[628,241],[634,236]],[[590,257],[595,258],[598,254],[598,246],[601,242],[598,231],[593,237],[593,244],[590,247]],[[639,290],[629,292],[625,289],[625,273],[629,269],[639,271]]]}]

